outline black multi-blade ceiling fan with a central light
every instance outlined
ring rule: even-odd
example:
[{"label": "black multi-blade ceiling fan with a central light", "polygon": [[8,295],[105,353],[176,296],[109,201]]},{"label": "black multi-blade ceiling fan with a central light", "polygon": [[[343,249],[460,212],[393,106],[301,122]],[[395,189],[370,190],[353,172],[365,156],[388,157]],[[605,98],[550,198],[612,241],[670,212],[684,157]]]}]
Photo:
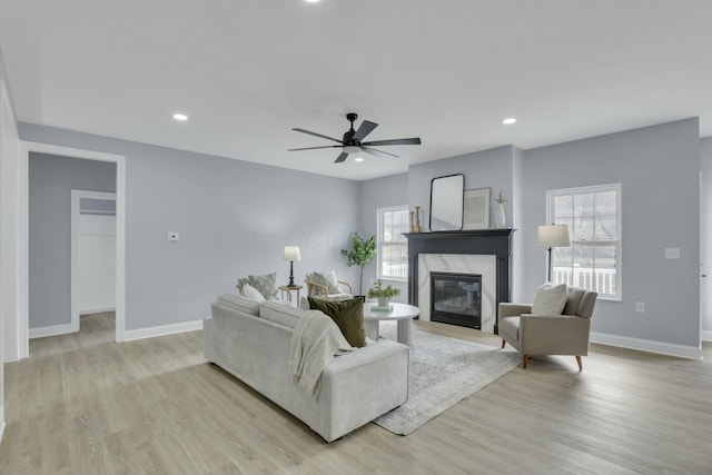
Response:
[{"label": "black multi-blade ceiling fan with a central light", "polygon": [[388,154],[386,151],[376,150],[370,146],[384,146],[384,145],[421,145],[421,139],[418,137],[411,139],[392,139],[392,140],[372,140],[372,141],[362,141],[368,133],[370,133],[378,123],[370,122],[368,120],[364,120],[358,126],[358,130],[354,130],[354,121],[358,118],[358,116],[354,112],[349,112],[346,115],[346,119],[352,122],[350,129],[344,132],[344,138],[342,140],[335,139],[333,137],[323,136],[322,133],[313,132],[310,130],[305,129],[291,129],[297,132],[308,133],[310,136],[322,137],[323,139],[333,140],[335,142],[339,142],[340,145],[327,145],[323,147],[306,147],[306,148],[290,148],[288,151],[295,150],[315,150],[318,148],[337,148],[340,147],[343,151],[339,156],[334,160],[335,164],[340,164],[346,160],[348,154],[356,154],[359,151],[365,151],[370,155],[375,155],[376,157],[385,158],[387,160],[393,160],[394,158],[398,158],[397,155]]}]

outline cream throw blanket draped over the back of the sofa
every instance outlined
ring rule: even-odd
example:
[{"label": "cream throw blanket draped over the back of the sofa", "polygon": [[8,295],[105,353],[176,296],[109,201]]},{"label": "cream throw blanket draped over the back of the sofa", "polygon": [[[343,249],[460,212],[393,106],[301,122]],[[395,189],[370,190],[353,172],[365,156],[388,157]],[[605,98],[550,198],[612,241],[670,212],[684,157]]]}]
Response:
[{"label": "cream throw blanket draped over the back of the sofa", "polygon": [[350,352],[336,323],[320,311],[307,311],[297,321],[291,334],[289,372],[294,382],[308,395],[319,395],[322,372],[332,363],[334,355]]}]

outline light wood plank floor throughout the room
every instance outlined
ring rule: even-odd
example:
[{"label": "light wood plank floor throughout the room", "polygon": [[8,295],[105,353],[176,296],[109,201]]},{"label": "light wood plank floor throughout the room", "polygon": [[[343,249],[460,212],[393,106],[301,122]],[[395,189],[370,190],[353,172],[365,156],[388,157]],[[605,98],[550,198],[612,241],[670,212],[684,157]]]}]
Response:
[{"label": "light wood plank floor throughout the room", "polygon": [[201,331],[116,344],[112,325],[6,365],[0,473],[712,474],[710,344],[705,362],[593,345],[583,373],[534,357],[408,436],[368,424],[326,444],[207,364]]}]

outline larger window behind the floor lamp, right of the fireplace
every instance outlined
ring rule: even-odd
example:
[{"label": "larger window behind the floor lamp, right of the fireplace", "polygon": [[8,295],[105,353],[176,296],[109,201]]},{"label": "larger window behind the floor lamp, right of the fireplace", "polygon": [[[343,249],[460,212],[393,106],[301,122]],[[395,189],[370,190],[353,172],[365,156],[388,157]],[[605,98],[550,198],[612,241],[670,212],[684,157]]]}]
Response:
[{"label": "larger window behind the floor lamp, right of the fireplace", "polygon": [[554,283],[621,298],[621,185],[546,192],[547,222],[568,225],[571,247],[552,251]]}]

